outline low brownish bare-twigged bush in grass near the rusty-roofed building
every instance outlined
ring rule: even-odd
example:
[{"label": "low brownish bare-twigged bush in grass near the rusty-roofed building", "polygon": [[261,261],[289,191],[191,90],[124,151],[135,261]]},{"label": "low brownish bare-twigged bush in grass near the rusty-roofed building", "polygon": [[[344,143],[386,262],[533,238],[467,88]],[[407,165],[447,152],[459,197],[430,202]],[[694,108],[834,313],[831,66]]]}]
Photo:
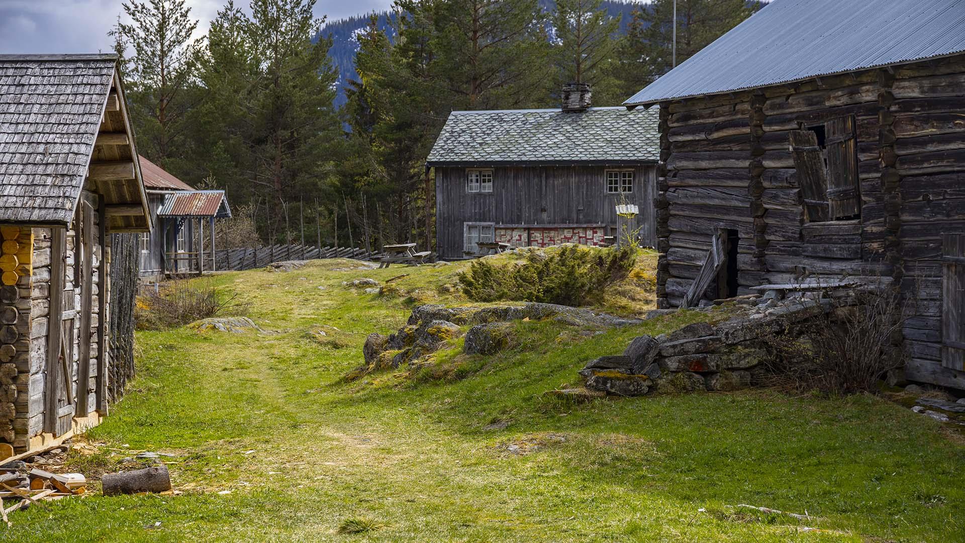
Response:
[{"label": "low brownish bare-twigged bush in grass near the rusty-roofed building", "polygon": [[222,296],[206,283],[175,279],[158,292],[138,297],[134,317],[138,329],[170,329],[218,315],[241,317],[248,304],[235,303],[237,295]]}]

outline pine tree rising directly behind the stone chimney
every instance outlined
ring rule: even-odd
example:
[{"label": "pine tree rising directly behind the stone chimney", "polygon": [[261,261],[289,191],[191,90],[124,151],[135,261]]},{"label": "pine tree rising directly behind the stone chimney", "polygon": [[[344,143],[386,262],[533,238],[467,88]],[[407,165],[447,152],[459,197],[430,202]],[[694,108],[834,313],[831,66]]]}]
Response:
[{"label": "pine tree rising directly behind the stone chimney", "polygon": [[588,83],[593,101],[618,100],[617,80],[611,64],[619,53],[620,17],[601,8],[602,0],[557,0],[553,15],[555,61],[563,83]]}]

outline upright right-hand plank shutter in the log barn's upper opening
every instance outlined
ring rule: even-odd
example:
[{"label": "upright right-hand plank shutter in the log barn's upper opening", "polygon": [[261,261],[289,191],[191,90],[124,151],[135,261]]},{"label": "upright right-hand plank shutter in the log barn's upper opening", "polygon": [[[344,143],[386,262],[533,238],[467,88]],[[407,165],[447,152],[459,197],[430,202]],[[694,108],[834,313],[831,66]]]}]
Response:
[{"label": "upright right-hand plank shutter in the log barn's upper opening", "polygon": [[861,213],[858,185],[858,151],[854,117],[832,119],[824,125],[828,151],[828,204],[832,220],[852,218]]}]

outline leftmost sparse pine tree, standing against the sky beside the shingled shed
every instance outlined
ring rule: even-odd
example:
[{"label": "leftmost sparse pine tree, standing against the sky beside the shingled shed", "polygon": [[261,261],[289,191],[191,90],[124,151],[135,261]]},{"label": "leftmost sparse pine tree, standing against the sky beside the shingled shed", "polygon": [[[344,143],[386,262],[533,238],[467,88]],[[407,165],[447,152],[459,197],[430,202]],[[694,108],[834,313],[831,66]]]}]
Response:
[{"label": "leftmost sparse pine tree, standing against the sky beside the shingled shed", "polygon": [[131,23],[109,34],[124,57],[127,100],[138,150],[164,164],[185,145],[186,113],[198,100],[195,85],[198,43],[192,35],[198,21],[185,0],[131,0],[123,5]]}]

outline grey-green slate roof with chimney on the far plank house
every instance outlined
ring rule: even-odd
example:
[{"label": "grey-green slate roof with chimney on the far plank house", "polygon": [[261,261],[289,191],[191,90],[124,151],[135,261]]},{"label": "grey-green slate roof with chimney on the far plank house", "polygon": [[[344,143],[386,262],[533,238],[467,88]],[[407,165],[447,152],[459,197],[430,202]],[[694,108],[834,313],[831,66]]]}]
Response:
[{"label": "grey-green slate roof with chimney on the far plank house", "polygon": [[454,111],[427,166],[499,163],[629,163],[660,157],[657,110],[593,107]]}]

